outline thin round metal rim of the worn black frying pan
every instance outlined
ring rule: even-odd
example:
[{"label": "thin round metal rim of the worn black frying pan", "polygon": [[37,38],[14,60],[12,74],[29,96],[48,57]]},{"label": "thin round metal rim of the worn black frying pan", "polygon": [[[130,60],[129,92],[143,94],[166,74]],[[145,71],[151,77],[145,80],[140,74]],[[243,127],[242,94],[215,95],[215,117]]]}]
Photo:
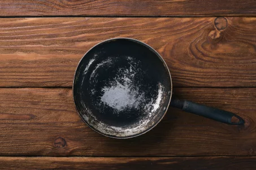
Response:
[{"label": "thin round metal rim of the worn black frying pan", "polygon": [[[158,58],[163,62],[163,65],[164,67],[168,70],[168,73],[169,73],[169,76],[170,76],[170,83],[171,83],[171,94],[170,94],[170,100],[168,101],[168,105],[167,105],[167,108],[166,110],[164,111],[164,114],[162,115],[162,117],[151,127],[147,128],[145,131],[142,131],[140,133],[137,133],[136,135],[132,135],[132,136],[124,136],[124,137],[118,137],[118,136],[111,136],[111,135],[107,135],[105,133],[102,133],[101,131],[98,131],[98,129],[90,126],[90,124],[88,122],[86,122],[84,120],[83,117],[81,117],[81,114],[79,112],[79,110],[77,109],[77,105],[76,105],[76,101],[75,101],[75,93],[74,93],[74,83],[75,83],[75,79],[76,79],[76,72],[77,72],[77,69],[79,68],[79,65],[81,63],[81,61],[84,59],[84,57],[86,56],[86,54],[91,51],[94,47],[98,46],[99,44],[102,44],[102,43],[106,43],[106,42],[109,42],[109,41],[115,41],[117,39],[127,39],[129,41],[133,41],[133,42],[136,42],[136,43],[139,43],[139,44],[142,44],[144,45],[145,47],[149,48],[149,50],[153,51],[157,56]],[[111,137],[111,138],[120,138],[120,139],[125,139],[125,138],[133,138],[133,137],[137,137],[137,136],[140,136],[140,135],[143,135],[145,134],[146,132],[149,132],[151,129],[153,129],[155,126],[157,126],[157,124],[163,119],[163,117],[166,115],[167,113],[167,110],[170,106],[170,103],[171,103],[171,98],[172,98],[172,78],[171,78],[171,73],[170,73],[170,70],[166,64],[166,61],[164,61],[163,57],[151,46],[149,46],[149,44],[146,44],[142,41],[139,41],[137,39],[133,39],[133,38],[127,38],[127,37],[118,37],[118,38],[110,38],[110,39],[106,39],[105,41],[101,41],[99,43],[97,43],[96,45],[94,45],[92,48],[90,48],[85,54],[83,57],[81,57],[80,61],[78,62],[77,66],[76,66],[76,70],[75,70],[75,74],[73,75],[73,82],[72,82],[72,97],[73,97],[73,103],[75,104],[75,108],[76,108],[76,112],[77,114],[79,114],[80,118],[83,120],[83,122],[88,126],[90,127],[91,129],[93,129],[94,131],[98,132],[99,134],[103,135],[103,136],[106,136],[106,137]]]}]

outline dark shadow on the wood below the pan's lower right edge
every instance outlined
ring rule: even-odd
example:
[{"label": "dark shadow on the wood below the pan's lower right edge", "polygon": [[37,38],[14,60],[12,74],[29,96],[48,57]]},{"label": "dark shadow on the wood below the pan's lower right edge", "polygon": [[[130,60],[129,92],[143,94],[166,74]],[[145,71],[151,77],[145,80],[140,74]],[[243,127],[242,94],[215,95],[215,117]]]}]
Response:
[{"label": "dark shadow on the wood below the pan's lower right edge", "polygon": [[[108,138],[105,145],[107,145],[106,147],[112,148],[113,151],[118,150],[122,153],[122,156],[134,156],[134,153],[136,155],[150,155],[151,149],[155,150],[158,145],[166,143],[166,140],[170,140],[170,133],[172,132],[172,128],[176,126],[175,121],[178,114],[179,111],[170,107],[161,122],[149,132],[127,139]],[[160,153],[163,153],[163,151]]]}]

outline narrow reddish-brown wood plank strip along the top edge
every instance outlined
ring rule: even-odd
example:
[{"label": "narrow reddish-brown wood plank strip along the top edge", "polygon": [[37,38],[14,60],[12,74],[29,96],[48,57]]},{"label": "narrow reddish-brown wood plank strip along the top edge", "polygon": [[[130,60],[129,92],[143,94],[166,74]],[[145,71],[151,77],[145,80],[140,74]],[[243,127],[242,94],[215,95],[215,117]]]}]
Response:
[{"label": "narrow reddish-brown wood plank strip along the top edge", "polygon": [[109,0],[54,1],[5,0],[0,16],[255,16],[256,3],[215,0]]}]

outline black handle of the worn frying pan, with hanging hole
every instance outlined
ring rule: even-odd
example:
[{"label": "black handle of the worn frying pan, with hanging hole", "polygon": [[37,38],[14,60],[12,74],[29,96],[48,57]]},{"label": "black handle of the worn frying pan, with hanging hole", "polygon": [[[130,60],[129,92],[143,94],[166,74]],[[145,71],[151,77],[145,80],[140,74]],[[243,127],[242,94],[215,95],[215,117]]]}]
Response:
[{"label": "black handle of the worn frying pan, with hanging hole", "polygon": [[[238,115],[231,113],[229,111],[220,110],[216,108],[211,108],[209,106],[200,105],[192,101],[188,100],[179,100],[172,99],[171,106],[175,108],[182,109],[183,111],[200,115],[205,118],[209,118],[212,120],[216,120],[218,122],[226,123],[226,124],[244,124],[245,121]],[[239,122],[232,122],[232,117],[236,117],[239,119]]]}]

